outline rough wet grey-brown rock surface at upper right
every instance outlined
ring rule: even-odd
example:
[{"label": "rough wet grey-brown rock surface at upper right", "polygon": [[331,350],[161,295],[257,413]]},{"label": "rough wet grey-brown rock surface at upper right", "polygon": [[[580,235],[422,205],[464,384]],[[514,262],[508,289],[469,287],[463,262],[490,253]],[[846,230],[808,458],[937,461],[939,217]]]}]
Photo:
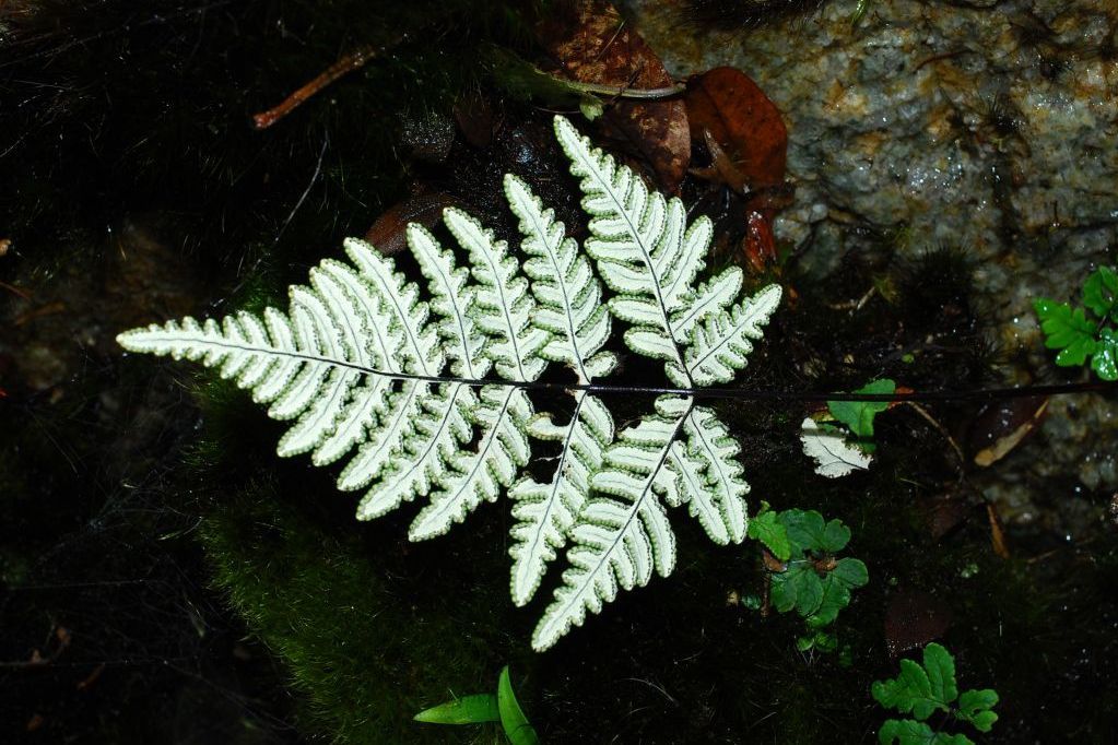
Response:
[{"label": "rough wet grey-brown rock surface at upper right", "polygon": [[[1078,296],[1118,250],[1118,2],[869,0],[852,22],[856,7],[712,34],[681,34],[678,3],[626,9],[676,76],[738,67],[784,112],[796,203],[776,231],[813,271],[882,235],[902,252],[966,247],[1014,360],[1006,381],[1051,374],[1033,298]],[[1116,421],[1114,397],[1053,401],[1010,458],[1114,489]],[[1029,494],[989,481],[1030,519]]]}]

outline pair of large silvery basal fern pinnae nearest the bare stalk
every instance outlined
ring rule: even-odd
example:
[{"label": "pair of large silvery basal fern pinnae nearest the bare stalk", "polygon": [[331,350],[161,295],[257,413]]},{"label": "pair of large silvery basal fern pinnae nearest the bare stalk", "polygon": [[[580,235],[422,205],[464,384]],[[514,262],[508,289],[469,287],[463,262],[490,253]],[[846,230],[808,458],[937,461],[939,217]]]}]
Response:
[{"label": "pair of large silvery basal fern pinnae nearest the bare stalk", "polygon": [[[750,340],[760,337],[780,288],[739,300],[741,275],[732,269],[693,287],[710,248],[710,221],[700,218],[688,227],[678,199],[648,192],[633,171],[566,120],[556,120],[556,131],[591,216],[587,252],[616,293],[610,313],[632,325],[625,333],[628,347],[664,360],[669,380],[682,388],[731,380],[746,366]],[[600,611],[618,585],[646,584],[650,567],[671,573],[675,541],[666,519],[657,519],[661,499],[689,505],[716,543],[745,539],[749,485],[737,452],[714,412],[697,408],[691,397],[661,398],[655,414],[626,429],[590,481],[616,498],[590,502],[571,528],[571,569],[537,627],[536,648],[553,644],[581,624],[587,611]]]}]

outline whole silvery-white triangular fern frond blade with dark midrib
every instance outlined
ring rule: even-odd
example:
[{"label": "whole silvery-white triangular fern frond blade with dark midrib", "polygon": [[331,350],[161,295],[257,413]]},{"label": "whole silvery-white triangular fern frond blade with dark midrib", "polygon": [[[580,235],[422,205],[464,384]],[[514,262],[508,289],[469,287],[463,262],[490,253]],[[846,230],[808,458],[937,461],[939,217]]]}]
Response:
[{"label": "whole silvery-white triangular fern frond blade with dark midrib", "polygon": [[[717,543],[745,538],[749,486],[738,446],[686,392],[732,380],[780,298],[775,285],[743,296],[737,267],[697,284],[710,221],[688,226],[679,199],[648,191],[567,120],[556,118],[556,133],[591,217],[584,250],[523,181],[506,175],[523,266],[504,241],[451,208],[444,221],[468,268],[426,229],[407,228],[426,299],[391,258],[350,239],[350,264],[325,259],[311,269],[307,286],[291,288],[287,313],[188,317],[117,337],[134,352],[217,367],[250,390],[269,417],[293,422],[281,456],[310,452],[318,466],[348,458],[338,486],[364,490],[359,518],[423,498],[413,541],[446,533],[506,490],[518,605],[569,544],[568,566],[533,634],[538,650],[580,625],[588,610],[600,611],[618,588],[672,572],[665,507],[686,505]],[[601,281],[612,292],[605,303]],[[620,432],[598,395],[609,388],[597,382],[617,364],[603,348],[614,319],[628,326],[629,350],[664,361],[679,391]],[[539,379],[551,362],[577,379],[567,386],[574,402],[565,421],[536,413],[529,398],[546,385]],[[549,480],[523,472],[531,438],[560,445]]]}]

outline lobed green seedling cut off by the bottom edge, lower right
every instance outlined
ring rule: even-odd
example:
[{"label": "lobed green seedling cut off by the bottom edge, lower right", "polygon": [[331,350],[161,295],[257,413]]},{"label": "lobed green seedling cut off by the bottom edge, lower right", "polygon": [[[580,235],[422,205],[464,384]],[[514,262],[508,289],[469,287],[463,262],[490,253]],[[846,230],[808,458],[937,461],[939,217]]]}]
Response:
[{"label": "lobed green seedling cut off by the bottom edge, lower right", "polygon": [[[878,730],[883,745],[974,745],[966,735],[948,734],[926,722],[939,711],[957,722],[969,722],[978,732],[989,732],[997,715],[997,693],[985,688],[959,695],[955,682],[955,658],[935,642],[923,648],[923,665],[901,660],[901,674],[892,680],[874,681],[871,693],[888,709],[909,714],[909,719],[887,719]],[[956,700],[957,699],[957,700]],[[940,727],[942,726],[941,723]]]}]

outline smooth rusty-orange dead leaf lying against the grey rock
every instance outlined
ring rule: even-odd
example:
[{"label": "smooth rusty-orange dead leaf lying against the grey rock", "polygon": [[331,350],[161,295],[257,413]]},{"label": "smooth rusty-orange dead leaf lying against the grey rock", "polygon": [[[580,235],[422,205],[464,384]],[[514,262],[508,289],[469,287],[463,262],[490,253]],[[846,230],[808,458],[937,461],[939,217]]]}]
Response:
[{"label": "smooth rusty-orange dead leaf lying against the grey rock", "polygon": [[685,102],[691,137],[707,140],[709,132],[745,176],[745,187],[758,191],[784,183],[788,131],[780,109],[745,73],[716,67],[697,75],[688,82]]}]

